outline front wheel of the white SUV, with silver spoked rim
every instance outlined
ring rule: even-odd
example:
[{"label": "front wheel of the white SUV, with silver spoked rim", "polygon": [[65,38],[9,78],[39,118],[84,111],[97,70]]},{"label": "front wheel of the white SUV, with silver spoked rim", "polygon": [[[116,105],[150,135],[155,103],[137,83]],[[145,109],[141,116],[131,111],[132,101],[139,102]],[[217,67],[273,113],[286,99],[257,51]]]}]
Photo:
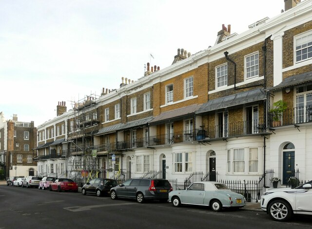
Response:
[{"label": "front wheel of the white SUV, with silver spoked rim", "polygon": [[275,221],[287,221],[292,217],[292,208],[284,200],[275,200],[269,205],[269,214]]}]

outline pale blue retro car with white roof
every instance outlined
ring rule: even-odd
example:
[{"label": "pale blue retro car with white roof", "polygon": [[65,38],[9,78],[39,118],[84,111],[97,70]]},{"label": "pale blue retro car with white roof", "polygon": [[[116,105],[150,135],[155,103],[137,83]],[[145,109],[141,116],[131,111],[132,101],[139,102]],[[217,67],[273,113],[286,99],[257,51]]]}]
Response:
[{"label": "pale blue retro car with white roof", "polygon": [[195,182],[186,190],[172,191],[169,193],[169,202],[175,207],[182,204],[210,206],[213,211],[246,206],[243,195],[231,191],[225,184],[213,181]]}]

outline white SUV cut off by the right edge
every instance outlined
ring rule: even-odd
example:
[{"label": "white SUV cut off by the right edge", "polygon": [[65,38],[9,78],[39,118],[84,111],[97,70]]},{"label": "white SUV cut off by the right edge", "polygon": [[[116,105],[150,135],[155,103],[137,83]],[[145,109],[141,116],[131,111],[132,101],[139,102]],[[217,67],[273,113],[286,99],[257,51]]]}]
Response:
[{"label": "white SUV cut off by the right edge", "polygon": [[292,214],[312,215],[312,181],[294,189],[271,189],[261,197],[261,209],[275,221],[287,221]]}]

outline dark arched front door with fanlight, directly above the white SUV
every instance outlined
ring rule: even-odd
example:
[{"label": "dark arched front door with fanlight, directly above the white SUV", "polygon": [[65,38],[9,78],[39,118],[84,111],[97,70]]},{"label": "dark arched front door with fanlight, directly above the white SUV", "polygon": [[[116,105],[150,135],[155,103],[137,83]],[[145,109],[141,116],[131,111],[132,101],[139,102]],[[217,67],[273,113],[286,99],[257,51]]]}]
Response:
[{"label": "dark arched front door with fanlight, directly above the white SUV", "polygon": [[283,147],[283,185],[286,185],[289,177],[294,175],[294,145],[287,143]]}]

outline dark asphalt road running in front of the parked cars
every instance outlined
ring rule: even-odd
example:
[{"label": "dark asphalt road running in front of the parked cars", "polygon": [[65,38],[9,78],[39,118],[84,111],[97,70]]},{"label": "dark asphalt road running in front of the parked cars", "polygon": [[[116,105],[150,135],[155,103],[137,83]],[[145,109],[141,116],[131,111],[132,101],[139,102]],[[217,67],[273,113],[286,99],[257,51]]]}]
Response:
[{"label": "dark asphalt road running in front of the parked cars", "polygon": [[0,229],[300,229],[311,228],[311,216],[279,223],[261,211],[183,206],[157,201],[83,196],[81,193],[42,191],[0,185]]}]

